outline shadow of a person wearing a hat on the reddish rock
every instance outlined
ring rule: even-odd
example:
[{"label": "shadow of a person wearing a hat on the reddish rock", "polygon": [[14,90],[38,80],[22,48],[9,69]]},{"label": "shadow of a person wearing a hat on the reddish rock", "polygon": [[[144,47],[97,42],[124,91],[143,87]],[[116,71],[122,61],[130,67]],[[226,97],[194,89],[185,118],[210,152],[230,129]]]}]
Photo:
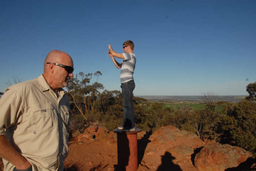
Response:
[{"label": "shadow of a person wearing a hat on the reddish rock", "polygon": [[180,166],[172,162],[174,159],[171,153],[165,152],[165,155],[162,156],[162,164],[157,168],[157,171],[182,171]]}]

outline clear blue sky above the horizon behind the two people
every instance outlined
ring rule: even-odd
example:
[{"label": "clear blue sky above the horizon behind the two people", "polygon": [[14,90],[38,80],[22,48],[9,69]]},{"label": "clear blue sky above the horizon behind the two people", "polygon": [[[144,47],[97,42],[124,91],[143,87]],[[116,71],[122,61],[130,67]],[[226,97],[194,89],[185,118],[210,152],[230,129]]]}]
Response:
[{"label": "clear blue sky above the horizon behind the two people", "polygon": [[256,0],[3,0],[0,92],[37,78],[54,49],[71,55],[74,75],[101,71],[105,89],[121,90],[108,44],[123,53],[126,40],[135,96],[248,95],[256,81]]}]

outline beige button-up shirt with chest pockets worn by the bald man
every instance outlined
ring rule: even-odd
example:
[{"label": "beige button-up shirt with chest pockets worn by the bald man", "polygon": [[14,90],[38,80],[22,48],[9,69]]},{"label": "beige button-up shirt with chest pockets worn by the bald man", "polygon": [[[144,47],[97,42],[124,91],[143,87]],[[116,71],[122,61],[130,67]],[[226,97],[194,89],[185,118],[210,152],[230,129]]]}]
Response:
[{"label": "beige button-up shirt with chest pockets worn by the bald man", "polygon": [[[0,98],[0,135],[32,164],[33,171],[63,170],[70,120],[65,91],[59,89],[57,97],[43,75],[11,86]],[[5,171],[15,167],[3,162]]]}]

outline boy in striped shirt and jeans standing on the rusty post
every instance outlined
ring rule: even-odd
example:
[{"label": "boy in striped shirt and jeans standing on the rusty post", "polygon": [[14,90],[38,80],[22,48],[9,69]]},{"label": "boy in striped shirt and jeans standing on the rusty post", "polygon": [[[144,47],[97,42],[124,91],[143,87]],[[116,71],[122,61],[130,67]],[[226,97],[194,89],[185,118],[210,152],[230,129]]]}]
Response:
[{"label": "boy in striped shirt and jeans standing on the rusty post", "polygon": [[[123,44],[124,53],[116,53],[111,45],[109,44],[108,54],[112,59],[114,65],[119,69],[121,68],[121,88],[123,94],[123,121],[124,125],[118,127],[123,131],[135,131],[135,120],[134,120],[134,109],[132,104],[132,92],[135,88],[135,83],[133,81],[133,71],[135,69],[136,58],[133,54],[134,43],[131,40],[127,40]],[[124,59],[122,63],[118,63],[116,58]]]}]

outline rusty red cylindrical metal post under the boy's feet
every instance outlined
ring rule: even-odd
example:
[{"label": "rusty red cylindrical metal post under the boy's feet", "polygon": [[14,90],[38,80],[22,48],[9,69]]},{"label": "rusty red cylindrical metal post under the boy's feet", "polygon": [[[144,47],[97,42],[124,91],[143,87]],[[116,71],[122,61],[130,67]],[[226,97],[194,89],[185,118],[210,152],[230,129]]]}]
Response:
[{"label": "rusty red cylindrical metal post under the boy's feet", "polygon": [[138,141],[137,133],[141,130],[125,132],[118,128],[113,130],[117,133],[117,168],[118,171],[138,170]]}]

